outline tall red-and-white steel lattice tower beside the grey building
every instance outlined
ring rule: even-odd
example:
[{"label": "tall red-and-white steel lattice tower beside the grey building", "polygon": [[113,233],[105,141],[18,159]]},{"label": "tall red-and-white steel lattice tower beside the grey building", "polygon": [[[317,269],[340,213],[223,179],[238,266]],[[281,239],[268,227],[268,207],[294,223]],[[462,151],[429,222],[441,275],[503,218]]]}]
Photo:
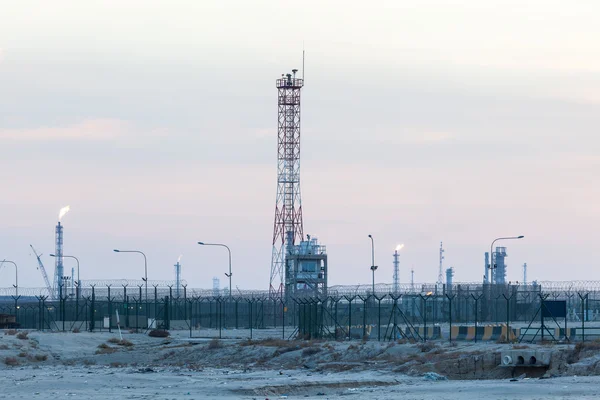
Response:
[{"label": "tall red-and-white steel lattice tower beside the grey building", "polygon": [[298,70],[277,79],[277,198],[271,254],[271,296],[283,293],[286,253],[303,239],[300,198],[300,92]]}]

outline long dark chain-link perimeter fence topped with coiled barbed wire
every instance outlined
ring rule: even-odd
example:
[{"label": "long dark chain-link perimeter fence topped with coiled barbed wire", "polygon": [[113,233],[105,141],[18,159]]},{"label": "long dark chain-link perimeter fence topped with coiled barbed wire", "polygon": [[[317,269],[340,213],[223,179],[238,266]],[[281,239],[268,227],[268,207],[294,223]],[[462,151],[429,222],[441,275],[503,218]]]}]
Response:
[{"label": "long dark chain-link perimeter fence topped with coiled barbed wire", "polygon": [[[52,331],[189,331],[190,337],[337,340],[585,340],[600,337],[600,291],[453,285],[439,291],[265,292],[197,295],[186,287],[95,287],[48,296],[4,296],[4,326]],[[564,315],[544,312],[564,302]],[[543,315],[546,315],[544,320]],[[12,319],[11,319],[12,318]],[[533,336],[533,338],[532,338]],[[545,339],[544,339],[545,338]]]}]

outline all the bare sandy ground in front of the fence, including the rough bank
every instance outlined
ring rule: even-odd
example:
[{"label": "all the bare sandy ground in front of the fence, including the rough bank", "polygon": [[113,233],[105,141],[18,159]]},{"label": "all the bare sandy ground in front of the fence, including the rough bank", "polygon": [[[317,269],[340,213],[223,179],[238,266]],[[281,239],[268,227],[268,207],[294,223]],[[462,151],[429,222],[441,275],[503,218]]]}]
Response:
[{"label": "all the bare sandy ground in front of the fence, including the rough bank", "polygon": [[[129,345],[111,338],[118,335],[1,335],[0,399],[562,399],[596,397],[600,385],[595,347],[575,357],[574,346],[556,346],[564,357],[556,357],[548,379],[511,381],[494,356],[510,345],[250,343],[184,332],[168,339],[124,334]],[[450,380],[431,380],[429,371]]]}]

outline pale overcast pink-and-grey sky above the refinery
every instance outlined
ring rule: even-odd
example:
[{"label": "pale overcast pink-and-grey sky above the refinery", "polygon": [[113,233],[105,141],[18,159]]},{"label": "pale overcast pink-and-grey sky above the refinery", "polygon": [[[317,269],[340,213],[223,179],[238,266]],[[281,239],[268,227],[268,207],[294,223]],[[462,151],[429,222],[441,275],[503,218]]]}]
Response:
[{"label": "pale overcast pink-and-grey sky above the refinery", "polygon": [[[600,280],[595,0],[19,1],[0,13],[0,259],[267,289],[277,90],[302,66],[304,232],[329,284]],[[67,270],[72,260],[65,260]],[[10,287],[11,266],[0,269]]]}]

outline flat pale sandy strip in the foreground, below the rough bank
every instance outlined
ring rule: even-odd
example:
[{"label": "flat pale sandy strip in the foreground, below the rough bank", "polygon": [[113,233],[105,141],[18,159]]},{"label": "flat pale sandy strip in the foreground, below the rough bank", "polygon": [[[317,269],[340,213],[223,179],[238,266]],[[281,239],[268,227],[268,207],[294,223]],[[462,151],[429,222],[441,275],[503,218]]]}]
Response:
[{"label": "flat pale sandy strip in the foreground, below the rough bank", "polygon": [[201,372],[133,368],[23,368],[3,373],[0,399],[528,399],[596,398],[598,377],[549,380],[441,381],[388,373],[317,374],[302,371]]}]

